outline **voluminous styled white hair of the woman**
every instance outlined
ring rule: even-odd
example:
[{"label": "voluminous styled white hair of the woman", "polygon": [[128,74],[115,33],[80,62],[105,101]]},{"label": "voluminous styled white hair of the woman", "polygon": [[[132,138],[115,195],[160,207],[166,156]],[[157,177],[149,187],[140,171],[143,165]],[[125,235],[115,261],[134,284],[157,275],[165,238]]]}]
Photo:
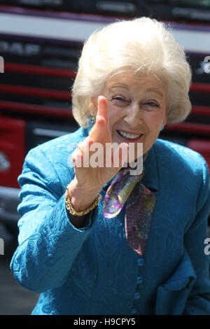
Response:
[{"label": "voluminous styled white hair of the woman", "polygon": [[73,117],[90,125],[90,97],[123,71],[153,73],[167,87],[167,123],[186,119],[192,72],[186,54],[165,24],[151,18],[120,20],[94,31],[84,43],[72,87]]}]

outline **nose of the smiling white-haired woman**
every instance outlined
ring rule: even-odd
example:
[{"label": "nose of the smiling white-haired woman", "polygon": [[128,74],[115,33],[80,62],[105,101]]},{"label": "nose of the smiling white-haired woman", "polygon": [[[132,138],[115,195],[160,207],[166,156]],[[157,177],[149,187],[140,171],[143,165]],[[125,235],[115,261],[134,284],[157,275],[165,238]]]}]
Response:
[{"label": "nose of the smiling white-haired woman", "polygon": [[125,122],[135,128],[144,123],[144,113],[141,111],[138,102],[132,102],[125,116]]}]

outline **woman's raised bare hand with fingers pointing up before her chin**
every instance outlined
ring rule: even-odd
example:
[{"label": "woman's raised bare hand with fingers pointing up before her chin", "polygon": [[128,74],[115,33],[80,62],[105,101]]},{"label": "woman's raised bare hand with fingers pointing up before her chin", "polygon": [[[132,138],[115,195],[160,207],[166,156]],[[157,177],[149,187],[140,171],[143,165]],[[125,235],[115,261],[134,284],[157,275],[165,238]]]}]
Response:
[{"label": "woman's raised bare hand with fingers pointing up before her chin", "polygon": [[[104,165],[103,167],[92,167],[92,163],[89,161],[87,167],[84,167],[83,160],[85,157],[91,160],[92,155],[97,152],[97,149],[96,151],[91,151],[96,145],[95,143],[101,145],[100,149],[102,153],[100,156],[104,158]],[[120,144],[120,148],[115,148],[113,150],[111,149],[111,143],[108,102],[105,97],[99,96],[96,122],[90,130],[89,136],[79,144],[78,148],[76,148],[71,155],[75,172],[75,178],[71,186],[80,190],[80,194],[83,195],[83,197],[86,196],[85,199],[87,202],[85,201],[84,209],[87,204],[91,204],[91,201],[93,201],[94,197],[102,190],[104,184],[110,181],[120,168],[123,167],[123,163],[126,159],[125,155],[127,156],[128,152],[128,146],[126,143],[122,143]],[[108,152],[106,152],[106,144],[109,145]],[[109,162],[110,167],[106,167],[106,157],[111,157]]]}]

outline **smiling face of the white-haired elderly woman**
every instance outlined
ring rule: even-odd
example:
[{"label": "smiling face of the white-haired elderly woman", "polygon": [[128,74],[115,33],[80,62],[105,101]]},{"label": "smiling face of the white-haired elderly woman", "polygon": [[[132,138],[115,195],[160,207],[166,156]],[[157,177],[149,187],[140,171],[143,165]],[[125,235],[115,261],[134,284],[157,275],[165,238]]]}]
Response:
[{"label": "smiling face of the white-haired elderly woman", "polygon": [[[151,73],[144,76],[123,73],[106,83],[102,94],[109,104],[112,141],[134,143],[134,158],[137,159],[137,143],[143,143],[145,154],[167,121],[165,85]],[[93,104],[96,106],[97,102],[91,98],[91,109]]]}]

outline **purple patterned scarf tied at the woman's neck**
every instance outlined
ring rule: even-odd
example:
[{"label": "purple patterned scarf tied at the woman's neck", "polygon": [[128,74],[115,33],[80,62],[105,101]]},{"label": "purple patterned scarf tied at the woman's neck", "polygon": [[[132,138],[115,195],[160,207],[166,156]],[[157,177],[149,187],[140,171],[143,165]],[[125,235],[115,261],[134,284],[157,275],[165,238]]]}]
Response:
[{"label": "purple patterned scarf tied at the woman's neck", "polygon": [[[144,155],[143,161],[146,159]],[[138,255],[143,255],[156,197],[141,183],[140,175],[130,175],[129,168],[122,168],[113,178],[104,197],[104,216],[113,218],[123,209],[125,202],[125,236],[127,244]]]}]

